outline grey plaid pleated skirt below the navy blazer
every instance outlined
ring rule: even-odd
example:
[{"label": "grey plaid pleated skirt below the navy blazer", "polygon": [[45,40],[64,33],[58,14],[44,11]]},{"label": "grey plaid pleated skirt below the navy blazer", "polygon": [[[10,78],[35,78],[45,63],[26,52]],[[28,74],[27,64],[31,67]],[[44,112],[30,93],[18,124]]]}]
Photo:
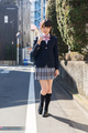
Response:
[{"label": "grey plaid pleated skirt below the navy blazer", "polygon": [[55,79],[55,68],[35,68],[35,80],[48,80]]}]

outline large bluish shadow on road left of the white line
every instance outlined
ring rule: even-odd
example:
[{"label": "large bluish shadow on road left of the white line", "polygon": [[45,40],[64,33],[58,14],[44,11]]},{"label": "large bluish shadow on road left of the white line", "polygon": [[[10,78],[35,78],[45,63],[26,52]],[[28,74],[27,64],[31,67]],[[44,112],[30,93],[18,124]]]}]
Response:
[{"label": "large bluish shadow on road left of the white line", "polygon": [[28,104],[29,82],[29,72],[0,75],[0,109]]}]

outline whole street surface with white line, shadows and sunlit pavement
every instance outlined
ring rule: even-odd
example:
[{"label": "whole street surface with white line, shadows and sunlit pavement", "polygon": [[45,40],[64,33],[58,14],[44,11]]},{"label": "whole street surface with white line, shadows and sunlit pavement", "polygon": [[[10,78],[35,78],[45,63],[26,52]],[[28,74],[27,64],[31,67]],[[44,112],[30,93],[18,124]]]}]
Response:
[{"label": "whole street surface with white line, shadows and sunlit pavement", "polygon": [[56,82],[50,116],[37,113],[41,85],[34,66],[0,66],[0,133],[88,133],[88,114]]}]

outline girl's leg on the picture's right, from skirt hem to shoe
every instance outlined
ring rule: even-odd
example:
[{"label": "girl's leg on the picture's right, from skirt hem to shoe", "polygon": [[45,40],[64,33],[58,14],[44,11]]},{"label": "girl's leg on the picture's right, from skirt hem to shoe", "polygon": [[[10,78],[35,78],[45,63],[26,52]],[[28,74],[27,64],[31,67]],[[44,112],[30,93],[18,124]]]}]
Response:
[{"label": "girl's leg on the picture's right, from skirt hem to shoe", "polygon": [[47,94],[45,96],[45,109],[44,109],[43,116],[47,116],[48,115],[48,104],[51,102],[51,96],[52,96],[53,79],[52,80],[47,80],[47,84],[48,84],[48,90],[47,90]]}]

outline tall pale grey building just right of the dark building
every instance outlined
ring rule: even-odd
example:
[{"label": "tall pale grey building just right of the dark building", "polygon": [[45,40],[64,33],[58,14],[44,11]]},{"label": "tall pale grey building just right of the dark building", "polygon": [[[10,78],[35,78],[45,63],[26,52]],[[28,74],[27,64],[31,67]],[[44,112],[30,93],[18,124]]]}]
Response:
[{"label": "tall pale grey building just right of the dark building", "polygon": [[18,0],[19,19],[18,29],[21,32],[20,43],[22,48],[30,45],[31,32],[31,2],[29,0]]}]

